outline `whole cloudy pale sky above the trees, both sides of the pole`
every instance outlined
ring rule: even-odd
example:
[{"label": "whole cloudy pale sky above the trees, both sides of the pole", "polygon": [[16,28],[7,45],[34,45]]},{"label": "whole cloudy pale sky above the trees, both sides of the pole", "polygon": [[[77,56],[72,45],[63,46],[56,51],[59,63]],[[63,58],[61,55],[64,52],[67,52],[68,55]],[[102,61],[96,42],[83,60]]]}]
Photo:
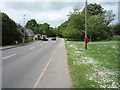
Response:
[{"label": "whole cloudy pale sky above the trees, both sides of the pole", "polygon": [[[75,2],[76,1],[76,2]],[[30,19],[38,23],[48,23],[52,27],[58,27],[68,19],[69,12],[75,6],[82,9],[85,7],[84,0],[1,0],[0,11],[6,13],[16,23],[24,26]],[[114,1],[114,2],[113,2]],[[89,3],[101,4],[104,10],[112,10],[116,15],[111,24],[118,22],[119,0],[88,0]]]}]

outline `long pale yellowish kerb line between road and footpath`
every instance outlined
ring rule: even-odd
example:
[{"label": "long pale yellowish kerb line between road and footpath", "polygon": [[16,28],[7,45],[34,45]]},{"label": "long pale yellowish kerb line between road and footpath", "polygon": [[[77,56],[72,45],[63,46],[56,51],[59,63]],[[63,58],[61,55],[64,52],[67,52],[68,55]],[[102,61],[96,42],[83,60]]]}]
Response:
[{"label": "long pale yellowish kerb line between road and footpath", "polygon": [[38,87],[38,85],[39,85],[39,83],[40,83],[40,81],[41,81],[44,73],[46,72],[49,64],[51,63],[51,61],[52,61],[52,59],[53,59],[53,56],[55,55],[56,51],[57,51],[57,48],[56,48],[55,51],[53,52],[52,57],[49,59],[47,65],[45,66],[44,70],[42,71],[42,73],[41,73],[40,76],[38,77],[38,80],[37,80],[36,83],[34,84],[33,88],[37,88],[37,87]]}]

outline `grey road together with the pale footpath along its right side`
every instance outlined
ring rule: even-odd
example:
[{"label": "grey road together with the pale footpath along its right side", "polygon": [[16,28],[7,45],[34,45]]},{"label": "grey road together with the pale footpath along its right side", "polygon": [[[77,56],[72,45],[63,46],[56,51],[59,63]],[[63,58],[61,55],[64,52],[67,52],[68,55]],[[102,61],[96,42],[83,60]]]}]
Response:
[{"label": "grey road together with the pale footpath along its right side", "polygon": [[63,39],[2,51],[2,88],[70,88]]}]

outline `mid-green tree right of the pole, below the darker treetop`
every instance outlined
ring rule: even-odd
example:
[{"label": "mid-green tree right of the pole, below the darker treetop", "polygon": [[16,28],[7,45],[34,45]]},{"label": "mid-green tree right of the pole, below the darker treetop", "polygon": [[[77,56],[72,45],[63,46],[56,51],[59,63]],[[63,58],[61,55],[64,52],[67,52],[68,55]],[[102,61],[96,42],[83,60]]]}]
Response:
[{"label": "mid-green tree right of the pole, below the darker treetop", "polygon": [[90,41],[106,39],[110,36],[109,26],[102,15],[91,16],[88,19],[88,36]]}]

